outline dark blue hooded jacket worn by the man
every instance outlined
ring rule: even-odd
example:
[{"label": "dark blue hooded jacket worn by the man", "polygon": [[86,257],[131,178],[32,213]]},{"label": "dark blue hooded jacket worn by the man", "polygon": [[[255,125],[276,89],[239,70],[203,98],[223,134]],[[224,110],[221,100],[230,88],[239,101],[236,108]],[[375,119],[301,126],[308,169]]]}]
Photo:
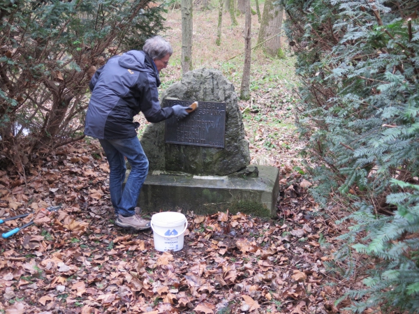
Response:
[{"label": "dark blue hooded jacket worn by the man", "polygon": [[153,123],[172,117],[171,107],[160,107],[159,85],[159,72],[145,52],[131,50],[110,58],[91,77],[84,134],[107,140],[129,138],[137,136],[133,117],[140,111]]}]

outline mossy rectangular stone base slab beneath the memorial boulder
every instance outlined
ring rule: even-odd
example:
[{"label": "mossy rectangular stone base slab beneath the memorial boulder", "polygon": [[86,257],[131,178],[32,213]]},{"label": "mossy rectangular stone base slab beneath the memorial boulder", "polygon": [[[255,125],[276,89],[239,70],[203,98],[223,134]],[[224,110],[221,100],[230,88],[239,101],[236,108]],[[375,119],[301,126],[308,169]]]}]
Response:
[{"label": "mossy rectangular stone base slab beneath the memorial boulder", "polygon": [[149,173],[138,205],[143,212],[182,209],[195,214],[226,211],[274,217],[279,194],[277,167],[256,165],[257,178]]}]

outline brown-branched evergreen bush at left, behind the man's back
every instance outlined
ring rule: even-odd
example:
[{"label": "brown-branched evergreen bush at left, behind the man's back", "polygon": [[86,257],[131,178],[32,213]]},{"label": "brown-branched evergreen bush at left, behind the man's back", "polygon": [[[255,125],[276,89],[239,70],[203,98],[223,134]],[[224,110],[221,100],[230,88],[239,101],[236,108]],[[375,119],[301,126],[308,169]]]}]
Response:
[{"label": "brown-branched evergreen bush at left, behind the man's back", "polygon": [[91,75],[163,29],[148,0],[2,1],[0,162],[30,160],[84,135]]}]

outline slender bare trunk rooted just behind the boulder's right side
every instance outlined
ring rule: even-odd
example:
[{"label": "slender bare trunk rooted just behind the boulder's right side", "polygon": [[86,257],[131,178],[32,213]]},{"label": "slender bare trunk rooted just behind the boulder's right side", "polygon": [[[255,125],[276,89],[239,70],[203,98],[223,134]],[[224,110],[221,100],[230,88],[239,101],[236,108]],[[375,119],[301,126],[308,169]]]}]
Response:
[{"label": "slender bare trunk rooted just behind the boulder's right side", "polygon": [[246,8],[246,22],[244,25],[244,66],[242,84],[240,86],[240,98],[250,98],[250,63],[251,63],[251,13],[250,0],[243,0]]}]

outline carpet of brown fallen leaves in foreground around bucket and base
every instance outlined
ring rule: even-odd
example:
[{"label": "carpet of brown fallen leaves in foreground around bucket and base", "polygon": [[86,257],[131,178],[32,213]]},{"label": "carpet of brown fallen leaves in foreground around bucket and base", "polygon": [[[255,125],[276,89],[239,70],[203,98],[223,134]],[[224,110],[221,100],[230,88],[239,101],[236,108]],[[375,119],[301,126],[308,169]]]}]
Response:
[{"label": "carpet of brown fallen leaves in foreground around bucket and base", "polygon": [[[329,256],[317,233],[327,237],[327,229],[310,216],[315,205],[297,198],[303,187],[288,184],[292,177],[283,178],[291,188],[281,220],[189,212],[184,249],[156,252],[151,231],[124,232],[110,223],[105,160],[78,149],[59,156],[60,171],[39,168],[28,178],[33,195],[18,177],[0,180],[0,214],[34,211],[27,219],[36,221],[4,242],[0,291],[15,304],[25,300],[10,311],[299,314],[323,311],[335,296],[322,287]],[[60,211],[42,210],[58,200]]]}]

